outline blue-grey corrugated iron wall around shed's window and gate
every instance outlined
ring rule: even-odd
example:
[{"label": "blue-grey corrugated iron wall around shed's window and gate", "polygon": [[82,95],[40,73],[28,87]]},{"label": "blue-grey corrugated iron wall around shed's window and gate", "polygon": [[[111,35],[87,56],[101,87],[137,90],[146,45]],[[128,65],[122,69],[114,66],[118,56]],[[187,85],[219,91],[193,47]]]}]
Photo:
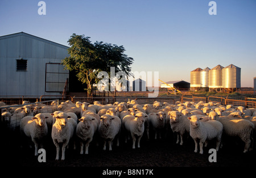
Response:
[{"label": "blue-grey corrugated iron wall around shed's window and gate", "polygon": [[[60,63],[69,56],[67,48],[23,32],[0,37],[0,96],[59,95],[45,91],[46,63]],[[27,60],[27,71],[16,71],[20,58]]]}]

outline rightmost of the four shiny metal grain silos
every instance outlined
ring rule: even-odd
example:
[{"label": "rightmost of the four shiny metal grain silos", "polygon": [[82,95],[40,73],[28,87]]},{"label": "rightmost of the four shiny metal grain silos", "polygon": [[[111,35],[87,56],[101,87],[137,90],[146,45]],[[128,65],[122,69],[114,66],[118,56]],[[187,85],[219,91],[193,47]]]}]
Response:
[{"label": "rightmost of the four shiny metal grain silos", "polygon": [[241,88],[241,68],[233,64],[222,69],[222,86],[225,90]]}]

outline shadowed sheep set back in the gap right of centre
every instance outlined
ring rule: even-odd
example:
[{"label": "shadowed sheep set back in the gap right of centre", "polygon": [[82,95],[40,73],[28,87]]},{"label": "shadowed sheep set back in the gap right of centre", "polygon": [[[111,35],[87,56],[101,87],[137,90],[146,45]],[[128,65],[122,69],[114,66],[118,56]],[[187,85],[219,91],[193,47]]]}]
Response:
[{"label": "shadowed sheep set back in the gap right of centre", "polygon": [[157,134],[161,139],[161,130],[164,129],[165,126],[166,113],[160,111],[158,113],[150,113],[148,114],[148,120],[150,125],[155,130],[155,139],[157,138]]}]

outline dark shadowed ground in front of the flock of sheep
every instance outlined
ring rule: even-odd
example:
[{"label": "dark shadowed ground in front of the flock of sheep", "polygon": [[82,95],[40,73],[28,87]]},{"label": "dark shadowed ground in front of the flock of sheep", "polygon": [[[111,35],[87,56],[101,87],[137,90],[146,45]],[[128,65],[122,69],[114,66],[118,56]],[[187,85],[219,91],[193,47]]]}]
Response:
[{"label": "dark shadowed ground in front of the flock of sheep", "polygon": [[[128,108],[127,108],[128,109]],[[80,117],[81,118],[81,117]],[[150,128],[151,129],[151,128]],[[164,130],[162,139],[154,139],[155,133],[150,130],[150,140],[146,135],[141,139],[141,148],[132,149],[132,140],[125,143],[121,134],[119,147],[113,144],[113,150],[102,150],[102,145],[97,146],[97,141],[90,143],[88,155],[80,155],[80,149],[74,150],[73,147],[66,149],[65,160],[56,161],[56,148],[51,138],[44,146],[46,150],[46,162],[38,162],[38,157],[31,154],[34,148],[20,147],[20,134],[6,130],[1,126],[1,158],[5,158],[6,165],[21,165],[26,167],[41,166],[65,166],[65,167],[216,167],[216,166],[256,166],[256,149],[243,153],[242,141],[230,140],[227,145],[217,152],[217,162],[211,163],[208,158],[209,149],[215,148],[214,142],[209,142],[204,147],[204,154],[193,152],[195,143],[192,138],[185,138],[184,144],[176,144],[176,135],[171,129]],[[79,142],[76,143],[77,148]],[[40,154],[39,154],[40,155]]]}]

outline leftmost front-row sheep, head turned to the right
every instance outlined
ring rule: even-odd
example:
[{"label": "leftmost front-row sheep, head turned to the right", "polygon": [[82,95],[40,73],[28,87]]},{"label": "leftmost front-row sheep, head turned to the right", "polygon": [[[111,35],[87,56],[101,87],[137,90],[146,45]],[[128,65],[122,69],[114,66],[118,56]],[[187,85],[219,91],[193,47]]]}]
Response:
[{"label": "leftmost front-row sheep, head turned to the right", "polygon": [[32,139],[35,144],[35,156],[38,155],[39,143],[41,148],[43,148],[43,138],[46,137],[48,133],[48,128],[46,124],[46,116],[39,113],[33,116],[26,116],[20,120],[20,132],[24,133],[27,137]]}]

